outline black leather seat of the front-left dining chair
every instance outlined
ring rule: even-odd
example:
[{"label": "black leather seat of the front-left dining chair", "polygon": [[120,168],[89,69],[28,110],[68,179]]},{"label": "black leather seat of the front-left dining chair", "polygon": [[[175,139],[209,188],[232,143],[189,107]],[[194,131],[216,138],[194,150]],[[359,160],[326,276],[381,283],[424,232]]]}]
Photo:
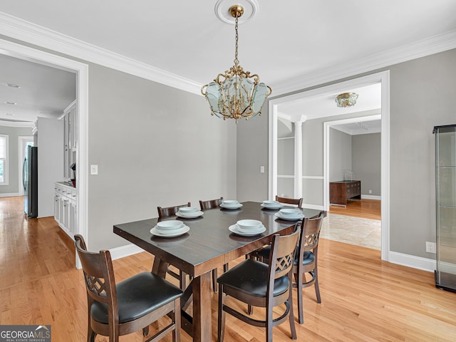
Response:
[{"label": "black leather seat of the front-left dining chair", "polygon": [[[115,286],[118,296],[119,323],[140,318],[174,301],[182,290],[150,272],[142,272]],[[95,321],[108,324],[108,306],[95,302],[91,308]]]}]

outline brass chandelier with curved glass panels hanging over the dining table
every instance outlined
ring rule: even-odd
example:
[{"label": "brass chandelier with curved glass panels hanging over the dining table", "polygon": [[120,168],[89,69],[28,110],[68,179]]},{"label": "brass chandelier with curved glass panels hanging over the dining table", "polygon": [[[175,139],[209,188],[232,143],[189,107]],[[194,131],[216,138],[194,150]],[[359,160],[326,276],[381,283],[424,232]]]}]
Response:
[{"label": "brass chandelier with curved glass panels hanging over the dining table", "polygon": [[240,118],[253,118],[261,115],[264,100],[271,95],[271,88],[264,83],[259,83],[257,74],[250,75],[239,66],[237,59],[238,48],[238,19],[244,14],[241,5],[229,8],[229,14],[235,19],[236,52],[234,53],[234,66],[229,71],[219,73],[214,82],[202,86],[201,93],[209,102],[211,115],[223,120]]}]

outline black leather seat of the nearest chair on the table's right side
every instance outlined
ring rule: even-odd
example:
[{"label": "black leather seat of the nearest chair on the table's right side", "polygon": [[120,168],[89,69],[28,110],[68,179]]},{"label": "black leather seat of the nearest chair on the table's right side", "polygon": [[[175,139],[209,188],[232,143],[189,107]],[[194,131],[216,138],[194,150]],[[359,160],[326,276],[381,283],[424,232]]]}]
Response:
[{"label": "black leather seat of the nearest chair on the table's right side", "polygon": [[[241,264],[219,276],[217,282],[252,296],[266,296],[268,282],[268,265],[260,261],[247,259]],[[288,276],[274,281],[274,296],[283,294],[289,289]]]}]

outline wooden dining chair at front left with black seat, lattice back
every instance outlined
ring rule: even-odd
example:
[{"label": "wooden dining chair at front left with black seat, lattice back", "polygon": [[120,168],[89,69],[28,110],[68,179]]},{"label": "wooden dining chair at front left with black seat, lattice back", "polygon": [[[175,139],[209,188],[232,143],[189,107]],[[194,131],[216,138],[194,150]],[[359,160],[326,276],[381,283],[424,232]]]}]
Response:
[{"label": "wooden dining chair at front left with black seat, lattice back", "polygon": [[88,342],[94,342],[97,335],[118,342],[119,336],[141,328],[146,337],[149,325],[167,315],[171,323],[147,341],[159,341],[170,332],[172,341],[180,341],[182,290],[152,272],[135,274],[115,284],[109,251],[88,252],[81,235],[75,235],[75,246],[86,283]]}]

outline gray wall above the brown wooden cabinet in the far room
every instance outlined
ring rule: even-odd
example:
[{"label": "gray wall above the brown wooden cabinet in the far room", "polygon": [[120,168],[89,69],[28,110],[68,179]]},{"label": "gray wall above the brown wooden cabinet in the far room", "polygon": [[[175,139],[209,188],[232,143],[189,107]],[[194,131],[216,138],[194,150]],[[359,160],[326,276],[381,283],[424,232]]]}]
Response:
[{"label": "gray wall above the brown wooden cabinet in the far room", "polygon": [[[355,178],[361,180],[361,195],[381,195],[380,138],[380,133],[351,137],[351,165]],[[372,190],[371,194],[369,190]]]}]

